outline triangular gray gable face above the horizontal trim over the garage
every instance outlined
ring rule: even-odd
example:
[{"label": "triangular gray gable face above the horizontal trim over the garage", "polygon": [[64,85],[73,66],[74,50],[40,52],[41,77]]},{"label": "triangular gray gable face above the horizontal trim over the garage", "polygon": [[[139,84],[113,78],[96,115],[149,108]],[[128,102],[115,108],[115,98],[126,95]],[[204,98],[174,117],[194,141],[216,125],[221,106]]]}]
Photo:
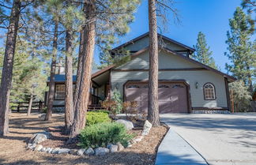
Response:
[{"label": "triangular gray gable face above the horizontal trim over the garage", "polygon": [[[201,68],[186,59],[180,58],[167,51],[159,52],[159,69],[191,69]],[[137,55],[130,62],[117,67],[116,69],[149,69],[149,50]]]}]

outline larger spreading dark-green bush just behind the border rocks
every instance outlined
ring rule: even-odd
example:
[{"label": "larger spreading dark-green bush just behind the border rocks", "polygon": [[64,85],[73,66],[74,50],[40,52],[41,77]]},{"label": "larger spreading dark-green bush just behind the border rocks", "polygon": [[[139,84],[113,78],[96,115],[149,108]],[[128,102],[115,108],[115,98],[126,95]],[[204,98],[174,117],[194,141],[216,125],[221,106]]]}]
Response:
[{"label": "larger spreading dark-green bush just behind the border rocks", "polygon": [[106,147],[107,144],[120,142],[127,147],[134,135],[126,132],[124,125],[117,122],[103,122],[92,126],[87,126],[81,131],[80,143],[82,148]]}]

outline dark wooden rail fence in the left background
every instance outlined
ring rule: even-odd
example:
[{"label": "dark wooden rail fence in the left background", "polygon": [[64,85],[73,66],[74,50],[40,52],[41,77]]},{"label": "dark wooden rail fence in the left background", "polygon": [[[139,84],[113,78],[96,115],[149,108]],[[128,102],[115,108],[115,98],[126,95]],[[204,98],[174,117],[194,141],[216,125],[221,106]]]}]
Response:
[{"label": "dark wooden rail fence in the left background", "polygon": [[[11,107],[12,111],[28,111],[28,102],[17,102],[12,104],[15,104]],[[31,111],[42,111],[43,107],[45,107],[45,105],[42,101],[32,102]]]}]

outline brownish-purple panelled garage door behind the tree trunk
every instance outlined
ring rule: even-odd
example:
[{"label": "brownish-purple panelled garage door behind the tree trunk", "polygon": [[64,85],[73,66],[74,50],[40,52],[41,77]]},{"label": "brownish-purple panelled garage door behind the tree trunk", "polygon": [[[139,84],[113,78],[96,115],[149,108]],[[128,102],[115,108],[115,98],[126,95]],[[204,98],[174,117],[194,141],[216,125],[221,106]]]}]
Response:
[{"label": "brownish-purple panelled garage door behind the tree trunk", "polygon": [[[148,84],[129,83],[125,87],[126,101],[136,101],[137,109],[148,110]],[[183,83],[160,83],[158,86],[159,111],[164,113],[187,113],[186,85]]]}]

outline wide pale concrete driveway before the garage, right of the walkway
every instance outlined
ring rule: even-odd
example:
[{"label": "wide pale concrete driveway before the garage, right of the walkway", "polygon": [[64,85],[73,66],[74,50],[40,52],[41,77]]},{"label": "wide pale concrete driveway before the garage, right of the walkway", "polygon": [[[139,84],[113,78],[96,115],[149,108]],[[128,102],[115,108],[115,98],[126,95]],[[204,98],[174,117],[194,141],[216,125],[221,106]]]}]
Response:
[{"label": "wide pale concrete driveway before the garage, right of the walkway", "polygon": [[209,164],[256,165],[256,114],[160,114]]}]

